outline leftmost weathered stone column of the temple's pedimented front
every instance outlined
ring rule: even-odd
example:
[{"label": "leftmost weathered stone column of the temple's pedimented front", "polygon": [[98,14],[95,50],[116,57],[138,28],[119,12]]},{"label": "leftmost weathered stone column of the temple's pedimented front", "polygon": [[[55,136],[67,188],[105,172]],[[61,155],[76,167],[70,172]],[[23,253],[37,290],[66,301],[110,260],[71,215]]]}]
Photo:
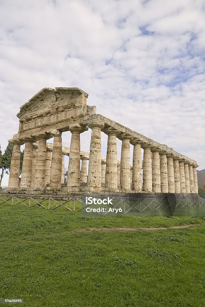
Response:
[{"label": "leftmost weathered stone column of the temple's pedimented front", "polygon": [[20,155],[21,155],[20,146],[24,142],[22,142],[21,140],[14,140],[14,141],[9,140],[9,142],[14,145],[11,157],[11,166],[10,166],[9,184],[8,184],[8,189],[11,189],[11,188],[18,188]]}]

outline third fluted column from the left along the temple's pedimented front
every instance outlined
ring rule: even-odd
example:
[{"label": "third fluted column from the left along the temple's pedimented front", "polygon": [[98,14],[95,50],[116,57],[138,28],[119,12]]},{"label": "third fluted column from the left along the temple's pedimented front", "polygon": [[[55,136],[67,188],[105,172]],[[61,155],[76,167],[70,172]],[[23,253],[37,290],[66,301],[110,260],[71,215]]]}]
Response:
[{"label": "third fluted column from the left along the temple's pedimented front", "polygon": [[34,188],[45,188],[45,168],[46,168],[46,140],[50,138],[48,134],[36,136],[38,141],[37,159],[36,159],[36,178]]}]

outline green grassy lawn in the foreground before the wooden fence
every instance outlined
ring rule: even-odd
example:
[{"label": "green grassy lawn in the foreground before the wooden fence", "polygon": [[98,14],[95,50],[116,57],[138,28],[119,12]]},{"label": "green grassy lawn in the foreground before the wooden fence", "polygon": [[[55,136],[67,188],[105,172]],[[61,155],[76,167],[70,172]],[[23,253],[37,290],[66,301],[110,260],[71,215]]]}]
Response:
[{"label": "green grassy lawn in the foreground before the wooden fence", "polygon": [[203,307],[204,225],[103,228],[204,222],[205,217],[84,217],[62,207],[2,204],[0,297],[24,298],[22,305],[7,306]]}]

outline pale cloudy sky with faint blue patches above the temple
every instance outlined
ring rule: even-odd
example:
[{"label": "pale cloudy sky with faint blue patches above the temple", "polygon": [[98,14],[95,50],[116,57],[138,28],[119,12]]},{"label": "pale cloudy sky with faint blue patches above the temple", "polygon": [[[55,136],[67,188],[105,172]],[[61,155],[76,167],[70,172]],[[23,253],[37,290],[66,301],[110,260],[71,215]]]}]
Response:
[{"label": "pale cloudy sky with faint blue patches above the temple", "polygon": [[205,1],[1,0],[0,23],[2,152],[41,88],[79,87],[98,114],[205,169]]}]

